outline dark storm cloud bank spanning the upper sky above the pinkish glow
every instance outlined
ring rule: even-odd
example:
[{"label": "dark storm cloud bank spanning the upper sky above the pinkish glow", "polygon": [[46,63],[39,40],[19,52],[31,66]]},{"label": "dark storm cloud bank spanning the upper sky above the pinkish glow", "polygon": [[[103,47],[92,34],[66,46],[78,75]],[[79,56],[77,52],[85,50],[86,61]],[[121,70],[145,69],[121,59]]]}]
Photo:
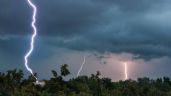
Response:
[{"label": "dark storm cloud bank spanning the upper sky above the pinkish glow", "polygon": [[[171,56],[169,0],[37,0],[36,4],[39,34],[48,44],[143,58]],[[30,9],[23,0],[0,1],[0,34],[26,34],[29,20]]]}]

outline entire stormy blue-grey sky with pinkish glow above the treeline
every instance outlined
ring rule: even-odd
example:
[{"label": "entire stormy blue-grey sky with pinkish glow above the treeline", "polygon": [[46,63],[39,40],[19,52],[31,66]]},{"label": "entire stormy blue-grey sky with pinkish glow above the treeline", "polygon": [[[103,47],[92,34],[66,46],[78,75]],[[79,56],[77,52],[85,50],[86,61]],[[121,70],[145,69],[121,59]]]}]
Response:
[{"label": "entire stormy blue-grey sky with pinkish glow above the treeline", "polygon": [[[32,0],[38,8],[30,67],[40,78],[69,65],[113,80],[171,77],[171,0]],[[0,71],[24,67],[32,32],[26,0],[0,0]]]}]

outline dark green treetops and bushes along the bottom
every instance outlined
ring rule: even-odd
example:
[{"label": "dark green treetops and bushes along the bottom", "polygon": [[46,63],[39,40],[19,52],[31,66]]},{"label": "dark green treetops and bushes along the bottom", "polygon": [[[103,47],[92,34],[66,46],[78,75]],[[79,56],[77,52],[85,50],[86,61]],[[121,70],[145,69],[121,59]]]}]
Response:
[{"label": "dark green treetops and bushes along the bottom", "polygon": [[21,70],[0,72],[0,96],[171,96],[168,77],[112,82],[110,78],[102,78],[97,71],[89,77],[80,76],[65,81],[63,78],[70,74],[67,67],[66,64],[61,66],[60,75],[52,70],[53,77],[44,80],[44,87],[34,85],[32,76],[23,78]]}]

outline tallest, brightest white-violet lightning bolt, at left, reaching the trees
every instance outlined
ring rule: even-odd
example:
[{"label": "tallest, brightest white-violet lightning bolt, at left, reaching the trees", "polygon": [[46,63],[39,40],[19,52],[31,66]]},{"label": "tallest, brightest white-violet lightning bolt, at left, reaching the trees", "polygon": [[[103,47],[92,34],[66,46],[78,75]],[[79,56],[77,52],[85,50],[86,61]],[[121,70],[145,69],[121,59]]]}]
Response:
[{"label": "tallest, brightest white-violet lightning bolt, at left, reaching the trees", "polygon": [[37,28],[35,26],[36,23],[36,14],[37,14],[37,8],[36,5],[31,2],[30,0],[27,0],[29,6],[33,9],[33,14],[32,14],[32,22],[31,22],[31,27],[33,28],[33,34],[31,36],[31,42],[30,42],[30,49],[28,50],[28,52],[26,53],[26,55],[24,56],[24,60],[25,60],[25,67],[26,69],[33,75],[33,77],[37,80],[37,77],[34,75],[33,70],[28,66],[28,58],[30,57],[31,53],[33,52],[34,49],[34,41],[35,41],[35,37],[37,35]]}]

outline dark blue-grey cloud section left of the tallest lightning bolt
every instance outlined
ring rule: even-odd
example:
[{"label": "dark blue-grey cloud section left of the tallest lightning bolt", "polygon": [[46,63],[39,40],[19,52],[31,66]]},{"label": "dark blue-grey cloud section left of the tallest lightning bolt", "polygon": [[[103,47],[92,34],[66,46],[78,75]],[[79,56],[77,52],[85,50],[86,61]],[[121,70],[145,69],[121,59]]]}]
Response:
[{"label": "dark blue-grey cloud section left of the tallest lightning bolt", "polygon": [[30,10],[24,0],[0,1],[0,35],[26,34],[29,28]]}]

